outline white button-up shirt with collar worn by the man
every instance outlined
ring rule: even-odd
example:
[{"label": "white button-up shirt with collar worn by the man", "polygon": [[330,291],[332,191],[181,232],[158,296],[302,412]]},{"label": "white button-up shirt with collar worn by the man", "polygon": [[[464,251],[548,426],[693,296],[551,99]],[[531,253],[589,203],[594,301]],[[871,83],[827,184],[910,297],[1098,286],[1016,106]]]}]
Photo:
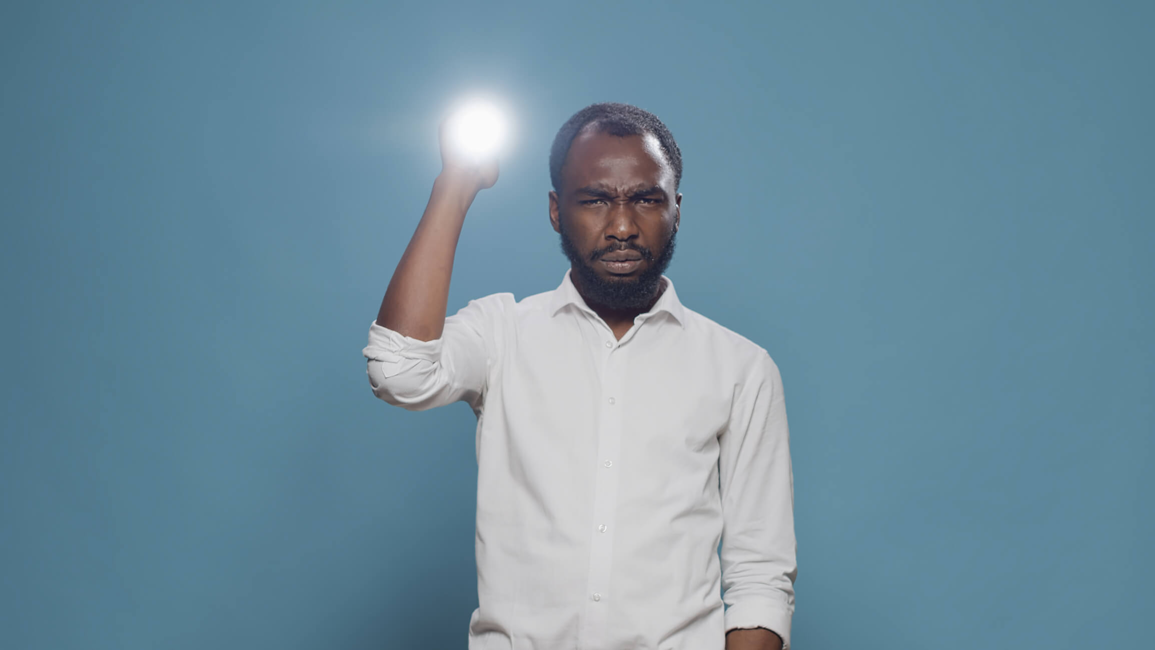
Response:
[{"label": "white button-up shirt with collar worn by the man", "polygon": [[469,650],[723,650],[726,630],[754,627],[788,647],[797,565],[777,365],[684,307],[665,276],[618,341],[569,272],[521,301],[470,300],[434,341],[370,327],[374,395],[477,414]]}]

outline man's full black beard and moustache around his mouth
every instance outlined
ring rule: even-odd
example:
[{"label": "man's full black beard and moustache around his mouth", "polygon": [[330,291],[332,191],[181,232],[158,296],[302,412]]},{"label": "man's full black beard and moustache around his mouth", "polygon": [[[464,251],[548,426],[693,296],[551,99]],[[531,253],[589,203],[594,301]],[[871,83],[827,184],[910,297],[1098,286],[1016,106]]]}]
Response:
[{"label": "man's full black beard and moustache around his mouth", "polygon": [[627,245],[626,248],[636,251],[642,256],[642,260],[646,261],[646,267],[636,276],[606,278],[598,275],[597,270],[594,269],[594,264],[611,251],[621,251],[623,248],[598,249],[590,255],[590,259],[582,257],[578,252],[578,247],[574,246],[573,240],[566,234],[565,223],[565,215],[559,214],[558,234],[561,236],[561,252],[566,254],[566,257],[569,257],[573,272],[579,279],[578,285],[583,293],[582,297],[588,302],[609,309],[624,311],[642,309],[649,306],[650,301],[657,294],[658,287],[662,285],[662,274],[665,272],[665,269],[670,266],[670,261],[673,259],[673,248],[677,244],[678,234],[676,230],[670,229],[670,237],[666,239],[665,246],[662,247],[662,252],[657,257],[654,256],[649,248],[632,244]]}]

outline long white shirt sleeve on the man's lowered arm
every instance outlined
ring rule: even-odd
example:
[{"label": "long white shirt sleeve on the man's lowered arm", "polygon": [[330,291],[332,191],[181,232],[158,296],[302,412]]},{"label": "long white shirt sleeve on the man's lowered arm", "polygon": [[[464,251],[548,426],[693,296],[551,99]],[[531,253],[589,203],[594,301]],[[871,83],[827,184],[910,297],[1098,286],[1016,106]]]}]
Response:
[{"label": "long white shirt sleeve on the man's lowered arm", "polygon": [[718,442],[725,629],[767,628],[785,650],[798,575],[793,470],[782,375],[765,350]]}]

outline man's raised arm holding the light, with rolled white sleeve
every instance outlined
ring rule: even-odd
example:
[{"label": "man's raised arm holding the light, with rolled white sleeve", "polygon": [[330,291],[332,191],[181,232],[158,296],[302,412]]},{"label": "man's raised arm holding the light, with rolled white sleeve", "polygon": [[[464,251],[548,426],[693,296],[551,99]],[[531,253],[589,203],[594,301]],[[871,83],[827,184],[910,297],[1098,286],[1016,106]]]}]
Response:
[{"label": "man's raised arm holding the light, with rolled white sleeve", "polygon": [[470,301],[450,319],[446,319],[446,307],[465,212],[477,193],[497,181],[497,160],[474,164],[461,159],[446,143],[445,122],[440,144],[441,173],[389,281],[363,351],[373,393],[410,410],[457,399],[476,404],[487,364],[486,304]]}]

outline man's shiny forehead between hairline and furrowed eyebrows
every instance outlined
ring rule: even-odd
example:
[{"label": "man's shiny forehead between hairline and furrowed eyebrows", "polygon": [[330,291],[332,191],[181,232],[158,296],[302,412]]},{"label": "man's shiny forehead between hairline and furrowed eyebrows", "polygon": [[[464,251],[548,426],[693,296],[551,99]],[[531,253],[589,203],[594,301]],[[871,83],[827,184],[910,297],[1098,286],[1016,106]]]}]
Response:
[{"label": "man's shiny forehead between hairline and furrowed eyebrows", "polygon": [[651,133],[617,136],[587,127],[569,144],[561,181],[567,189],[587,185],[672,187],[673,170]]}]

